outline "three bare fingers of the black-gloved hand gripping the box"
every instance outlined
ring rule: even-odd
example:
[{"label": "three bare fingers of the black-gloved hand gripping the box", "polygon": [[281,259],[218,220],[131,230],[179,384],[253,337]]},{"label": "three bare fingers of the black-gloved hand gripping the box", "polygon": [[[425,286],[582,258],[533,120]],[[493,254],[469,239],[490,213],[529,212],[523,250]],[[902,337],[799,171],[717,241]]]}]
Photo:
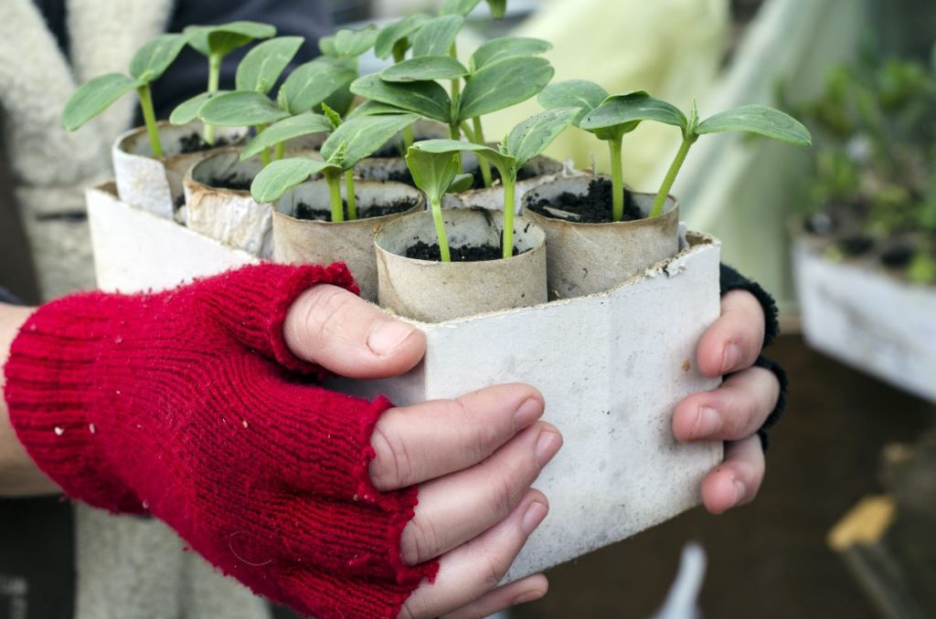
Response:
[{"label": "three bare fingers of the black-gloved hand gripping the box", "polygon": [[683,399],[673,413],[673,434],[681,442],[724,440],[724,462],[702,481],[702,502],[722,513],[757,496],[764,480],[764,450],[757,430],[780,397],[780,381],[753,367],[764,344],[764,310],[751,293],[722,297],[722,316],[703,334],[696,352],[699,371],[731,374],[714,391]]}]

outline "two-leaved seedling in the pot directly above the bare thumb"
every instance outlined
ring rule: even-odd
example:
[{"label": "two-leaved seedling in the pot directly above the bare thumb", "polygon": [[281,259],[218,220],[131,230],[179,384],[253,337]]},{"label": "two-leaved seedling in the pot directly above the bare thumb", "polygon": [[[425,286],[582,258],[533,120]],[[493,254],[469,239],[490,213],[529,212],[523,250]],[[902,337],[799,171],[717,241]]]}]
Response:
[{"label": "two-leaved seedling in the pot directly above the bare thumb", "polygon": [[[315,174],[322,174],[329,184],[331,221],[344,221],[341,175],[350,173],[355,164],[380,149],[391,137],[417,122],[416,114],[380,114],[359,116],[344,122],[325,140],[321,154],[324,161],[291,157],[271,163],[256,175],[250,191],[258,203],[274,202],[288,190]],[[346,188],[348,219],[358,219],[354,208],[353,183]]]}]

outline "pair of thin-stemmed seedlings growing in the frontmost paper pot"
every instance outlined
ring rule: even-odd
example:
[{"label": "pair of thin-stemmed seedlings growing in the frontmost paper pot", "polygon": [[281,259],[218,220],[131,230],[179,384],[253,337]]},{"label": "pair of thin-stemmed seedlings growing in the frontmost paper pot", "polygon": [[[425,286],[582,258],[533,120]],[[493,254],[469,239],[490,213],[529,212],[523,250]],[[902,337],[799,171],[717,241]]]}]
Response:
[{"label": "pair of thin-stemmed seedlings growing in the frontmost paper pot", "polygon": [[[461,171],[458,160],[451,157],[461,151],[472,151],[497,168],[504,183],[504,232],[502,249],[505,258],[513,255],[514,249],[514,197],[517,188],[517,173],[528,161],[546,150],[549,144],[569,126],[578,114],[578,108],[549,109],[520,122],[501,142],[499,149],[484,144],[461,142],[453,139],[430,139],[414,144],[406,156],[417,186],[426,192],[432,205],[432,217],[439,236],[439,249],[443,261],[448,240],[442,223],[441,197],[446,191],[461,188],[463,178],[456,176]],[[451,167],[449,167],[451,166]],[[441,171],[440,171],[441,170]],[[443,173],[444,172],[444,173]],[[446,179],[449,179],[446,182]],[[420,184],[422,183],[422,184]],[[435,200],[433,202],[433,199]]]}]

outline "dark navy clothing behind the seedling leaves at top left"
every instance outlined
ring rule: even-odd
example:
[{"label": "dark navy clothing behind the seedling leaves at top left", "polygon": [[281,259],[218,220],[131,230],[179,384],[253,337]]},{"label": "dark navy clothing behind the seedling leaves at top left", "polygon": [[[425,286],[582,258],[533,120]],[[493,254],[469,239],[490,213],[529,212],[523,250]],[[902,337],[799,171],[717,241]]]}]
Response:
[{"label": "dark navy clothing behind the seedling leaves at top left", "polygon": [[[332,23],[326,3],[321,0],[178,0],[169,21],[168,32],[182,32],[187,25],[205,25],[250,20],[271,23],[277,36],[304,36],[305,43],[290,67],[318,55],[318,39],[326,36]],[[221,67],[221,88],[234,87],[234,74],[245,46],[225,58]],[[287,69],[288,71],[288,69]],[[186,48],[154,88],[153,99],[158,118],[168,118],[180,103],[207,86],[208,61],[197,51]]]}]

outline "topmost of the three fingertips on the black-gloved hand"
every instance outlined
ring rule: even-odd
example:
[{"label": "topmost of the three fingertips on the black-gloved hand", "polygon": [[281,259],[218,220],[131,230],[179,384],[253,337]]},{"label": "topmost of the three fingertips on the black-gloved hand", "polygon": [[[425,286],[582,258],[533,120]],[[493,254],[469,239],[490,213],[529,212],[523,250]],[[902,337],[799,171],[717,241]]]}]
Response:
[{"label": "topmost of the three fingertips on the black-gloved hand", "polygon": [[696,361],[705,376],[753,366],[764,348],[764,309],[754,295],[733,290],[722,297],[722,316],[699,340]]}]

